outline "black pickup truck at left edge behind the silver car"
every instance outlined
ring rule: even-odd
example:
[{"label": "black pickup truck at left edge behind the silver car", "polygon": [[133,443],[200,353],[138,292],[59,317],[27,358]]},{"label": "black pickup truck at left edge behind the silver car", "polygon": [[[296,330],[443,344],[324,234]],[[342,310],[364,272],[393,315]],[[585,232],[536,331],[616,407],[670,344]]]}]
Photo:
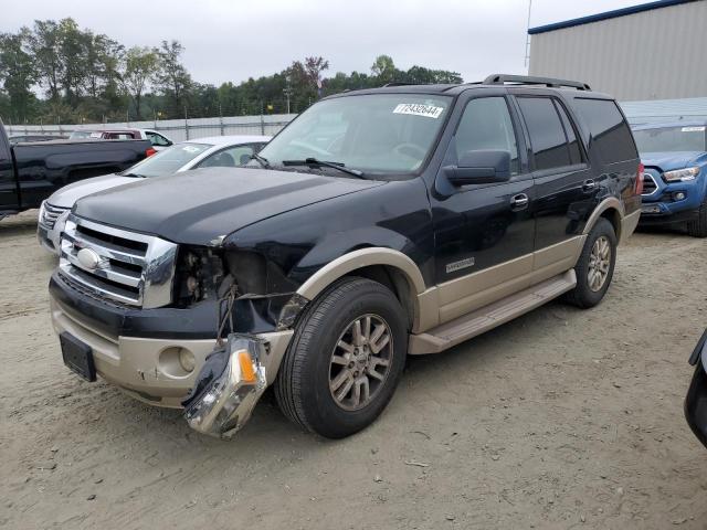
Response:
[{"label": "black pickup truck at left edge behind the silver car", "polygon": [[11,144],[0,121],[0,219],[39,208],[66,184],[122,171],[152,152],[149,140]]}]

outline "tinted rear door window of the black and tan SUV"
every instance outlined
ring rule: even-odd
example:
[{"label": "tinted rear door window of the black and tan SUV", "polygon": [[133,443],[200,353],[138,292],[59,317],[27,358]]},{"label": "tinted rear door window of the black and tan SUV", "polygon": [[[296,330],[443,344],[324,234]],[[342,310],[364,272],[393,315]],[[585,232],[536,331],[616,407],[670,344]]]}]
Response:
[{"label": "tinted rear door window of the black and tan SUV", "polygon": [[519,97],[518,105],[528,126],[535,169],[570,166],[570,150],[560,117],[549,97]]}]

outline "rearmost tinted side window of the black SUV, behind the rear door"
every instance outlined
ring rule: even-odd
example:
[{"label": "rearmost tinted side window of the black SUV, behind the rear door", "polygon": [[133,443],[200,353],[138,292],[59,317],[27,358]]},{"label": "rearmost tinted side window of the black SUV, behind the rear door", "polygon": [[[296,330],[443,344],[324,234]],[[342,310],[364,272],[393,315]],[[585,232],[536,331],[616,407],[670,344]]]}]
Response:
[{"label": "rearmost tinted side window of the black SUV, behind the rear door", "polygon": [[639,158],[629,124],[610,99],[574,99],[577,110],[592,134],[593,147],[606,163]]}]

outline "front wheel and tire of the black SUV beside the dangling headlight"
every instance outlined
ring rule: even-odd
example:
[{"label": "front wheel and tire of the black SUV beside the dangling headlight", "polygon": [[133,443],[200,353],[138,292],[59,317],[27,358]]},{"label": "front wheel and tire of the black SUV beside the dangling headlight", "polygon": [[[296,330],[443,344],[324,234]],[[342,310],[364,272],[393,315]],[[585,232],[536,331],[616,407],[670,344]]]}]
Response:
[{"label": "front wheel and tire of the black SUV beside the dangling headlight", "polygon": [[[367,318],[370,340],[363,339]],[[380,326],[382,332],[376,338]],[[355,346],[355,333],[362,346]],[[349,349],[339,347],[341,342]],[[327,438],[349,436],[370,425],[388,405],[407,354],[405,312],[390,289],[370,279],[342,278],[312,301],[299,319],[274,384],[277,404],[309,432]]]}]

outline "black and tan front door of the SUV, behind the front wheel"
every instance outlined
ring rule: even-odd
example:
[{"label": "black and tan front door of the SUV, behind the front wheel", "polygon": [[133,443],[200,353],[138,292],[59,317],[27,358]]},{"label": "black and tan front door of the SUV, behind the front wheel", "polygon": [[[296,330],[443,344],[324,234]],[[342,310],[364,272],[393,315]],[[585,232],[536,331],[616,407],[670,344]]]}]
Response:
[{"label": "black and tan front door of the SUV, behind the front wheel", "polygon": [[[517,114],[504,94],[469,98],[447,148],[445,165],[461,153],[510,152],[508,182],[433,190],[435,277],[440,321],[445,322],[527,286],[532,272],[532,178],[523,153]],[[520,139],[520,142],[519,142]]]}]

